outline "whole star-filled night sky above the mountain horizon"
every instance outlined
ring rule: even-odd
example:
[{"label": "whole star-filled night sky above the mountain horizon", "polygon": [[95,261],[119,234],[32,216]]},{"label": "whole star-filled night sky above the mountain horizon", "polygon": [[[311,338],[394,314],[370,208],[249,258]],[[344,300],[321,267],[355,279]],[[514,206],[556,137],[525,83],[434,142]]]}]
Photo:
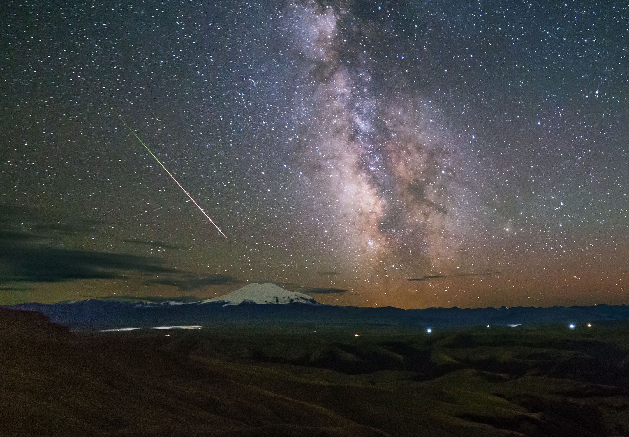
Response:
[{"label": "whole star-filled night sky above the mountain horizon", "polygon": [[628,301],[625,2],[4,9],[0,303]]}]

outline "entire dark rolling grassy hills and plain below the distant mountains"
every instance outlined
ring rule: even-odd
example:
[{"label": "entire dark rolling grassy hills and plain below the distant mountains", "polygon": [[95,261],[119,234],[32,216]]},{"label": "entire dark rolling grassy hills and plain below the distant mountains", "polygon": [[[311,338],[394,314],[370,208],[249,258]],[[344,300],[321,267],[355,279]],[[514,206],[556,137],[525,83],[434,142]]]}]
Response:
[{"label": "entire dark rolling grassy hills and plain below the distant mountains", "polygon": [[9,436],[629,433],[627,326],[352,329],[75,335],[0,309],[0,425]]}]

